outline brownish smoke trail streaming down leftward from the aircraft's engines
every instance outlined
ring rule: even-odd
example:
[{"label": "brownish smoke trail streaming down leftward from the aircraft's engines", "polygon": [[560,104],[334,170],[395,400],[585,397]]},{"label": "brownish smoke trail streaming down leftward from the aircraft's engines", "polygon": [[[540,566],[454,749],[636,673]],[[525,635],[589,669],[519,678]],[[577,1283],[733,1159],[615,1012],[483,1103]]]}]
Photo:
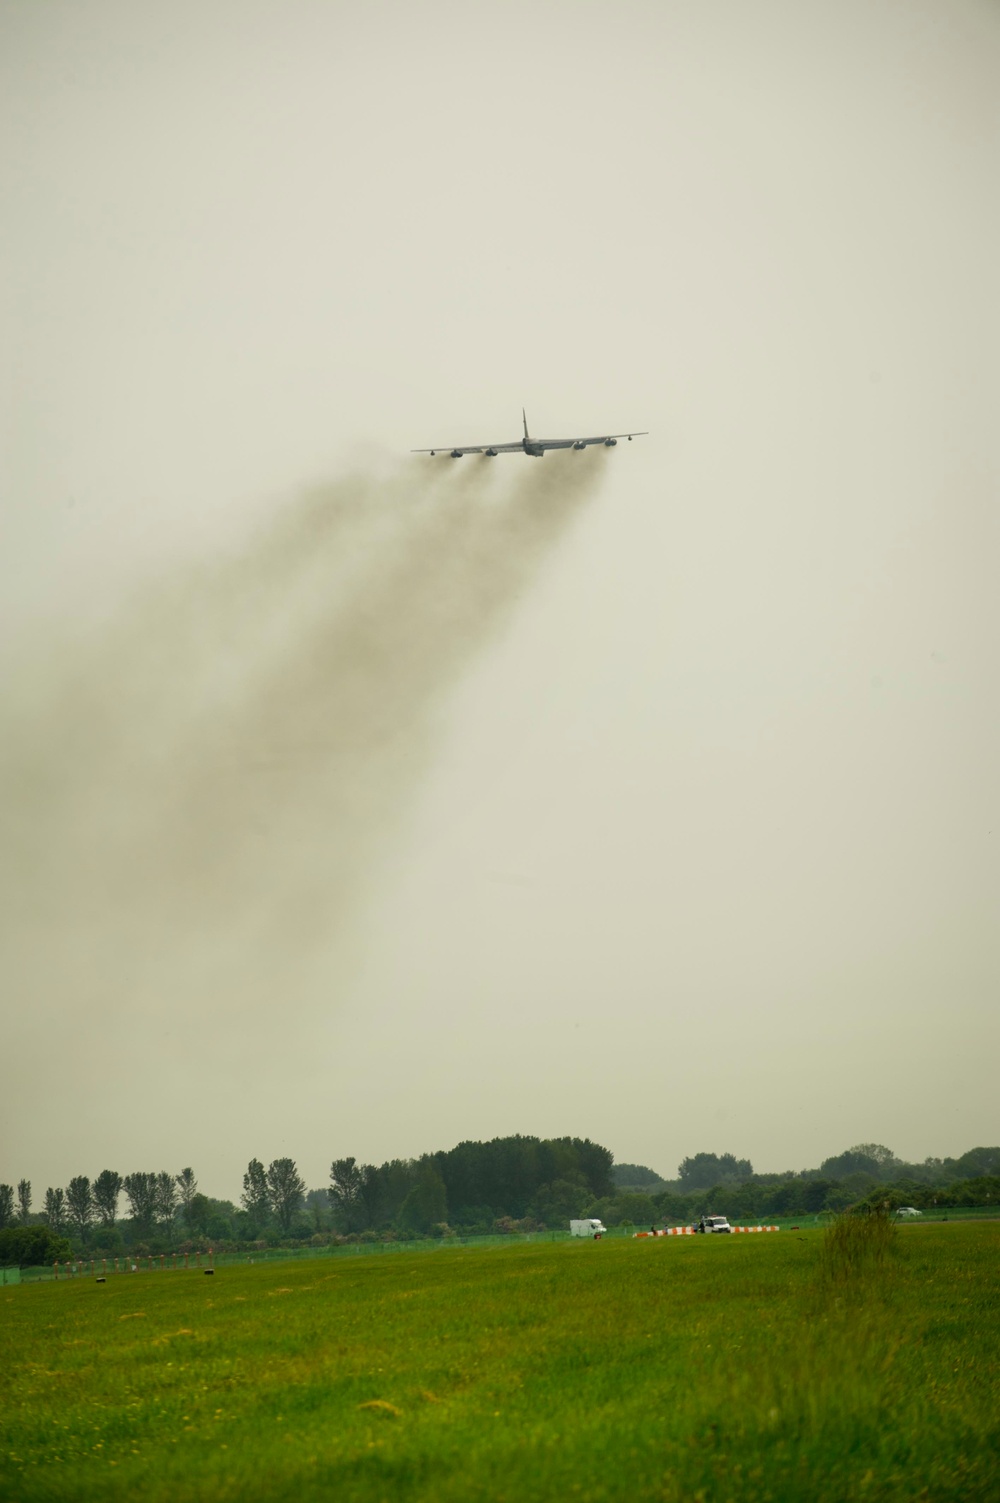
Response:
[{"label": "brownish smoke trail streaming down leftward from the aircraft's engines", "polygon": [[[341,935],[603,452],[316,488],[63,654],[2,727],[0,899],[24,1001],[247,1015]],[[18,696],[14,696],[14,703]]]}]

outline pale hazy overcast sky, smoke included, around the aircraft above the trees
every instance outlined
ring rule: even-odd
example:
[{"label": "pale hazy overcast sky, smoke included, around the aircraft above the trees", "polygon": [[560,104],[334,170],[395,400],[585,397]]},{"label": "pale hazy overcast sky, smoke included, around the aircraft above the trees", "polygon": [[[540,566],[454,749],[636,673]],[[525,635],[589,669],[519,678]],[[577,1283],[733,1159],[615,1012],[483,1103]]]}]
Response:
[{"label": "pale hazy overcast sky, smoke included, around the aircraft above the trees", "polygon": [[[973,0],[0,3],[0,1178],[997,1141],[998,80]],[[522,404],[650,437],[408,457]]]}]

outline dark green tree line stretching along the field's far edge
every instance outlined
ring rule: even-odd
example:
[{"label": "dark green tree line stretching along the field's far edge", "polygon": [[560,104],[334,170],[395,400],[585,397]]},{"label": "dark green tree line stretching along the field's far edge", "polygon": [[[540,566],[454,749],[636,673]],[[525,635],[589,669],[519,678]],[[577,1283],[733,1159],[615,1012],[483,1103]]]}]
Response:
[{"label": "dark green tree line stretching along the field's far edge", "polygon": [[997,1201],[1000,1148],[914,1166],[881,1144],[856,1144],[818,1169],[785,1174],[756,1174],[729,1153],[698,1153],[666,1181],[645,1165],[615,1165],[611,1150],[588,1138],[514,1135],[380,1165],[334,1159],[329,1183],[311,1190],[293,1159],[266,1168],[251,1159],[238,1204],[203,1195],[191,1168],[104,1169],[47,1189],[39,1211],[29,1180],[0,1184],[0,1263],[47,1263],[71,1250],[531,1231],[574,1216],[600,1216],[609,1226],[690,1222],[708,1211],[761,1220],[839,1211],[875,1193],[917,1208]]}]

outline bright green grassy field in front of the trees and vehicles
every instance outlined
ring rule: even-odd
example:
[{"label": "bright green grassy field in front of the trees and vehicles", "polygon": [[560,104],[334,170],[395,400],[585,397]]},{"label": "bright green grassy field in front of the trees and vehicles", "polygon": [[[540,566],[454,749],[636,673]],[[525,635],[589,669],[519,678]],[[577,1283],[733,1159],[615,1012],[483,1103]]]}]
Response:
[{"label": "bright green grassy field in front of the trees and vehicles", "polygon": [[997,1498],[1000,1226],[8,1288],[0,1497]]}]

